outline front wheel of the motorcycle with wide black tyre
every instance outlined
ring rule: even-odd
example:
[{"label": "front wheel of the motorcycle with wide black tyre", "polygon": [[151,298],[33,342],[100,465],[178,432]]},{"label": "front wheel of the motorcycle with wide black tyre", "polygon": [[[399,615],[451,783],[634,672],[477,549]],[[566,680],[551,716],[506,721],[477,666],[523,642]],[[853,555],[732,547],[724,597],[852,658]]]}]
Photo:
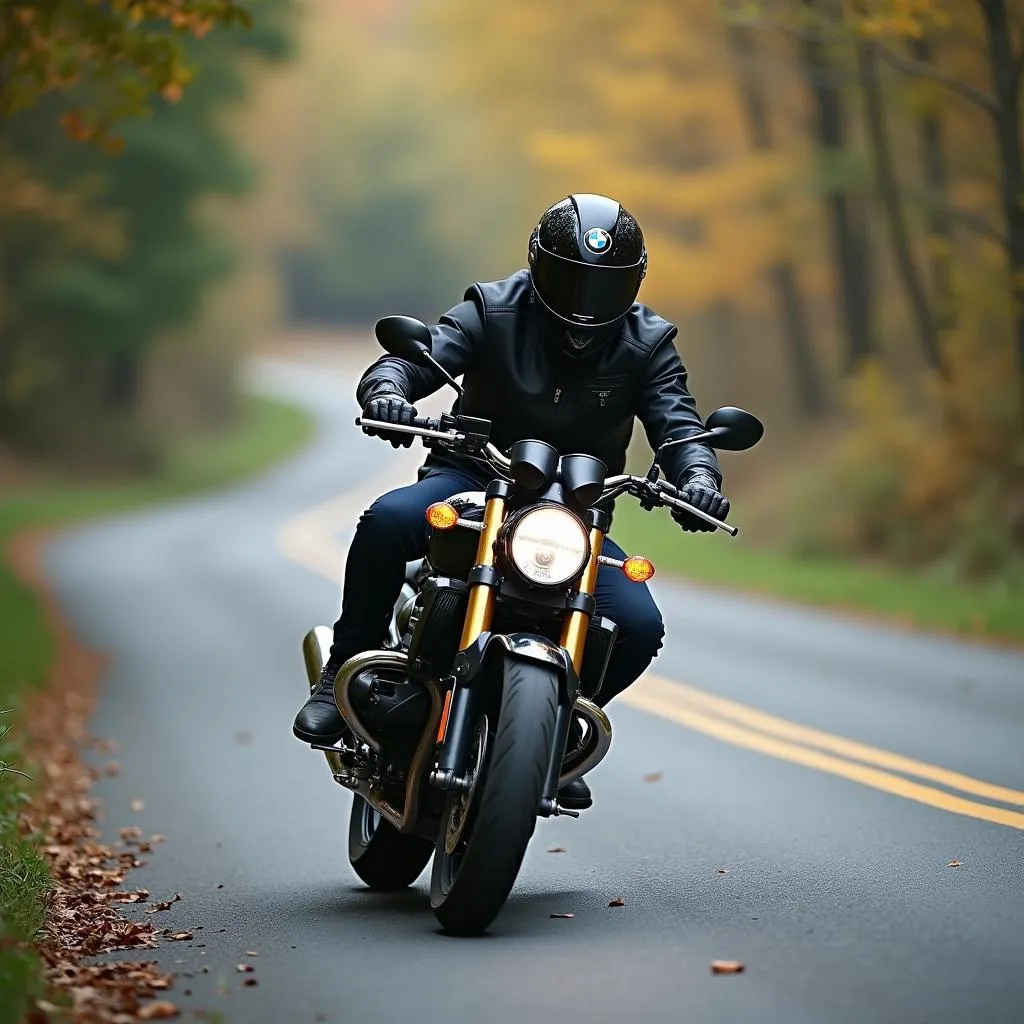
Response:
[{"label": "front wheel of the motorcycle with wide black tyre", "polygon": [[492,729],[476,726],[468,792],[449,798],[434,850],[430,905],[454,935],[479,935],[505,905],[534,828],[554,742],[558,676],[507,659]]}]

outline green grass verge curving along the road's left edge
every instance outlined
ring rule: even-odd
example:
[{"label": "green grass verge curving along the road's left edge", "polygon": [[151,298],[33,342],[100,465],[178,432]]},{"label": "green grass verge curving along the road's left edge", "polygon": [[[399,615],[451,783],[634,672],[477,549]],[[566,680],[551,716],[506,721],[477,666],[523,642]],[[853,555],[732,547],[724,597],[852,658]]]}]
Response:
[{"label": "green grass verge curving along the road's left edge", "polygon": [[[0,498],[0,552],[26,528],[124,512],[239,480],[296,450],[311,426],[300,410],[251,397],[238,424],[218,435],[182,441],[159,476],[108,484],[48,479],[13,489]],[[0,718],[0,1024],[19,1021],[20,1008],[40,991],[32,941],[43,924],[49,887],[36,844],[19,835],[18,810],[31,783],[7,764],[14,755],[3,736],[8,728],[16,736],[19,702],[45,682],[53,655],[39,595],[0,562],[0,711],[9,710]]]}]

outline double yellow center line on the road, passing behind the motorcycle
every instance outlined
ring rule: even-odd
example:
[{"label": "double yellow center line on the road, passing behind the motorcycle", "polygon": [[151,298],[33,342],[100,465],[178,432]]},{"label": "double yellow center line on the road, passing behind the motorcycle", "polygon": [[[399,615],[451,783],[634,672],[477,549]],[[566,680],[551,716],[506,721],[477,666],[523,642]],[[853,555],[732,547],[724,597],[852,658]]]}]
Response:
[{"label": "double yellow center line on the road, passing behind the motorcycle", "polygon": [[[289,518],[278,530],[278,550],[291,561],[340,587],[347,545],[337,540],[339,526],[354,521],[378,495],[409,481],[414,466],[407,453],[397,455],[387,473],[356,490],[346,492]],[[617,699],[733,746],[837,775],[951,814],[1024,829],[1024,813],[967,800],[903,775],[1019,806],[1024,806],[1022,792],[791,722],[653,673],[648,673]]]}]

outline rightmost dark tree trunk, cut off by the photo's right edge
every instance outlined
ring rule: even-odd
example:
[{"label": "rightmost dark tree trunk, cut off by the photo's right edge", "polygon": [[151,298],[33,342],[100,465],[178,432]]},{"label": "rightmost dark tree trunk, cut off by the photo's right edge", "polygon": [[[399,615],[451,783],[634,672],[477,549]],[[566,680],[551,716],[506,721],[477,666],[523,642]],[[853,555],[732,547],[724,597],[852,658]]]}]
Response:
[{"label": "rightmost dark tree trunk, cut off by the photo's right edge", "polygon": [[1014,341],[1024,414],[1024,161],[1021,159],[1020,85],[1022,54],[1014,53],[1005,0],[981,0],[995,92],[999,182],[1007,221],[1007,256],[1014,301]]}]

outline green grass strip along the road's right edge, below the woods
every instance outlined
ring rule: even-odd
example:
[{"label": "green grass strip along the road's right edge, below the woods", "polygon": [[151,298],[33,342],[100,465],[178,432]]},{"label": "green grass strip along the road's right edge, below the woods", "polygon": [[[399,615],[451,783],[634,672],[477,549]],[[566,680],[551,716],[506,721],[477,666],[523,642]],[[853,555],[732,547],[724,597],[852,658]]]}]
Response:
[{"label": "green grass strip along the road's right edge, below the woods", "polygon": [[1024,595],[1007,585],[969,585],[925,573],[840,560],[799,559],[724,534],[684,534],[668,512],[615,505],[615,540],[664,572],[844,611],[901,626],[975,638],[1024,641]]}]

